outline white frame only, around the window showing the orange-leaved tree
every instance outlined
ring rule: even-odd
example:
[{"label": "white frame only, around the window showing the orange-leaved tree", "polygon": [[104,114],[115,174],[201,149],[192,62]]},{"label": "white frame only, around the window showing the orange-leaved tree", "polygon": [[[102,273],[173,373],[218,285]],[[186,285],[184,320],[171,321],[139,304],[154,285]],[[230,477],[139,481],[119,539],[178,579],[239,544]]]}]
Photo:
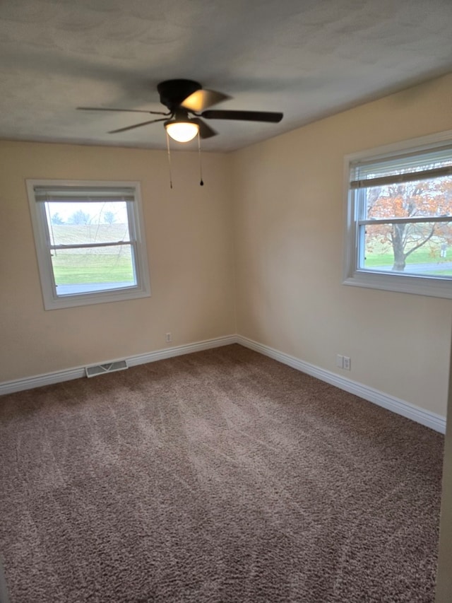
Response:
[{"label": "white frame only, around the window showing the orange-leaved tree", "polygon": [[422,136],[396,144],[369,149],[360,153],[351,153],[344,158],[344,198],[346,200],[345,216],[345,257],[343,284],[364,288],[375,288],[383,291],[414,293],[438,298],[452,299],[452,279],[437,276],[417,276],[377,272],[359,268],[359,229],[358,204],[354,192],[350,189],[350,166],[358,160],[377,160],[391,158],[406,151],[428,151],[445,144],[452,144],[452,130]]}]

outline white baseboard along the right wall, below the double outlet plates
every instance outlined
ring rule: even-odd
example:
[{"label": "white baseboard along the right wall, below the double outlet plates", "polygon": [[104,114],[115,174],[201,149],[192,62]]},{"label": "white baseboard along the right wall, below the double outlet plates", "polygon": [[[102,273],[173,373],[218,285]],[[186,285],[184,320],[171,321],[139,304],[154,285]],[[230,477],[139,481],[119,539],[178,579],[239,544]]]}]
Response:
[{"label": "white baseboard along the right wall, below the double outlet plates", "polygon": [[410,402],[405,402],[404,400],[379,392],[379,390],[374,390],[373,387],[362,385],[362,383],[357,383],[346,377],[331,373],[329,370],[301,361],[298,358],[295,358],[295,356],[289,356],[289,354],[280,352],[269,346],[258,344],[257,341],[253,341],[252,339],[237,335],[236,341],[237,344],[240,344],[241,346],[259,352],[264,356],[273,358],[283,364],[287,364],[292,368],[301,370],[302,373],[307,373],[307,375],[311,375],[311,377],[317,377],[317,379],[320,379],[321,381],[339,387],[340,390],[355,394],[368,402],[373,402],[378,406],[382,406],[384,409],[393,411],[396,414],[412,419],[412,421],[421,423],[421,425],[434,429],[434,431],[446,433],[446,417],[444,416],[421,409],[419,406],[415,406],[415,404],[410,404]]}]

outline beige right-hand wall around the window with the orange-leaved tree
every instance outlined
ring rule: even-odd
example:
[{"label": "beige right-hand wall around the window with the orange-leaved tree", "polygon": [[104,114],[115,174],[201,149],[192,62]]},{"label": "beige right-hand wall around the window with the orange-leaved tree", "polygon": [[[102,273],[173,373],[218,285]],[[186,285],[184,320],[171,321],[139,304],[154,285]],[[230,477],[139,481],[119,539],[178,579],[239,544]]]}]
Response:
[{"label": "beige right-hand wall around the window with the orange-leaved tree", "polygon": [[442,416],[452,302],[341,283],[343,157],[452,129],[451,98],[448,76],[232,158],[237,332]]}]

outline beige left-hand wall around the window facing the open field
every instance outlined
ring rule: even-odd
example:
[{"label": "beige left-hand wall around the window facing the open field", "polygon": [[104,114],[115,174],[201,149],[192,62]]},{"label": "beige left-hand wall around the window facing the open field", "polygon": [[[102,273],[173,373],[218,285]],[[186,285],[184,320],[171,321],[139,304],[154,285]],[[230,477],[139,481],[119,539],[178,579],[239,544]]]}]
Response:
[{"label": "beige left-hand wall around the window facing the open field", "polygon": [[[229,160],[0,142],[0,382],[235,332]],[[25,178],[139,180],[150,298],[45,311]]]}]

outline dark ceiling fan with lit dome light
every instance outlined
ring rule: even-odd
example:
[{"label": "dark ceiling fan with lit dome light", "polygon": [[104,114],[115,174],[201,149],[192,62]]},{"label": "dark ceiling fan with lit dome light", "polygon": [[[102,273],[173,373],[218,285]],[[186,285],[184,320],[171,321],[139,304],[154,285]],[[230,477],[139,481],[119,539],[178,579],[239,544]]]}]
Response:
[{"label": "dark ceiling fan with lit dome light", "polygon": [[[207,110],[208,107],[221,103],[230,96],[216,90],[204,90],[200,83],[192,80],[167,80],[157,85],[160,103],[167,107],[167,112],[147,111],[142,109],[112,109],[105,107],[77,107],[83,111],[126,111],[135,113],[148,113],[150,115],[163,115],[148,122],[141,122],[109,131],[109,134],[124,132],[139,128],[155,122],[165,122],[167,134],[178,142],[188,142],[199,134],[201,139],[210,138],[218,134],[203,119],[238,119],[245,122],[270,122],[278,123],[283,119],[283,113],[266,111],[222,111]],[[201,117],[203,119],[201,119]]]}]

